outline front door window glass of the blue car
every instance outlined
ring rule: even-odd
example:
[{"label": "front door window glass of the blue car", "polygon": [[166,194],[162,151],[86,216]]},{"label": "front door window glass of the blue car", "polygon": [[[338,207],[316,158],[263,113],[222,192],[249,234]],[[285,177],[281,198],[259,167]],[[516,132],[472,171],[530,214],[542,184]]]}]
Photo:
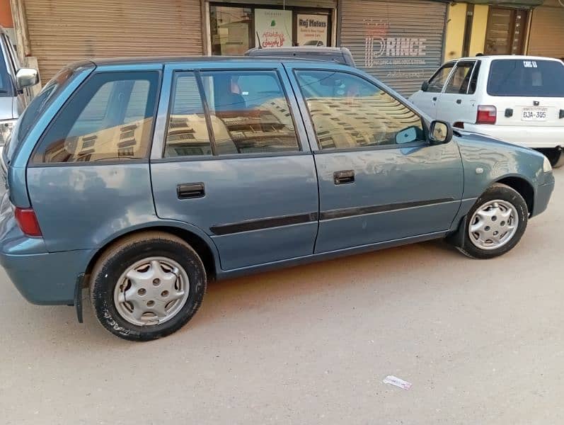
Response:
[{"label": "front door window glass of the blue car", "polygon": [[321,149],[403,147],[425,140],[421,117],[369,81],[345,72],[296,74]]}]

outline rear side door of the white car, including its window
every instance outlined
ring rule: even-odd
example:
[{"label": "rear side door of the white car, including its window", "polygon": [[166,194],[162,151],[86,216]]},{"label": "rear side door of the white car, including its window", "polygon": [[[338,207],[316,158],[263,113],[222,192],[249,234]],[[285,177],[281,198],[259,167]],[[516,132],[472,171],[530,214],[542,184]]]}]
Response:
[{"label": "rear side door of the white car, including its window", "polygon": [[[475,60],[459,61],[437,101],[437,118],[447,123],[473,123],[476,120]],[[475,75],[476,73],[476,75]]]}]

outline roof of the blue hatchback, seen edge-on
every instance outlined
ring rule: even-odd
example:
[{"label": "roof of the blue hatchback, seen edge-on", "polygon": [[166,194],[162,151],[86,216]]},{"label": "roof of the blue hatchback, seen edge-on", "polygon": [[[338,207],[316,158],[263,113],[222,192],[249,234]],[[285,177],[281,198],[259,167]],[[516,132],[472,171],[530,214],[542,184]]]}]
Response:
[{"label": "roof of the blue hatchback, seen edge-on", "polygon": [[111,57],[111,58],[96,58],[90,59],[95,65],[131,65],[131,64],[174,64],[185,62],[313,62],[313,63],[327,63],[323,60],[315,60],[303,57],[287,56],[281,57],[256,57],[256,56],[166,56],[166,57]]}]

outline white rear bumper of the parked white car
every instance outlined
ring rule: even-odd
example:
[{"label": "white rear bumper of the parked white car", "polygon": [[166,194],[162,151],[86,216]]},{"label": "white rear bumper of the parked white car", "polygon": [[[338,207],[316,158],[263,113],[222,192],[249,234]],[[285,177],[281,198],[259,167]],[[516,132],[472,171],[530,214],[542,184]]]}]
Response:
[{"label": "white rear bumper of the parked white car", "polygon": [[464,130],[533,149],[564,146],[564,127],[464,123]]}]

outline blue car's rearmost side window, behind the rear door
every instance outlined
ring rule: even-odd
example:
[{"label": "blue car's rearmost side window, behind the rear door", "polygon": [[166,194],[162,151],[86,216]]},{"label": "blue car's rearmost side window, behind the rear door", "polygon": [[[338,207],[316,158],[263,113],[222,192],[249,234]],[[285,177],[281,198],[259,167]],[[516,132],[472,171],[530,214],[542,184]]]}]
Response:
[{"label": "blue car's rearmost side window, behind the rear door", "polygon": [[159,72],[100,72],[63,106],[35,152],[35,164],[144,159]]}]

